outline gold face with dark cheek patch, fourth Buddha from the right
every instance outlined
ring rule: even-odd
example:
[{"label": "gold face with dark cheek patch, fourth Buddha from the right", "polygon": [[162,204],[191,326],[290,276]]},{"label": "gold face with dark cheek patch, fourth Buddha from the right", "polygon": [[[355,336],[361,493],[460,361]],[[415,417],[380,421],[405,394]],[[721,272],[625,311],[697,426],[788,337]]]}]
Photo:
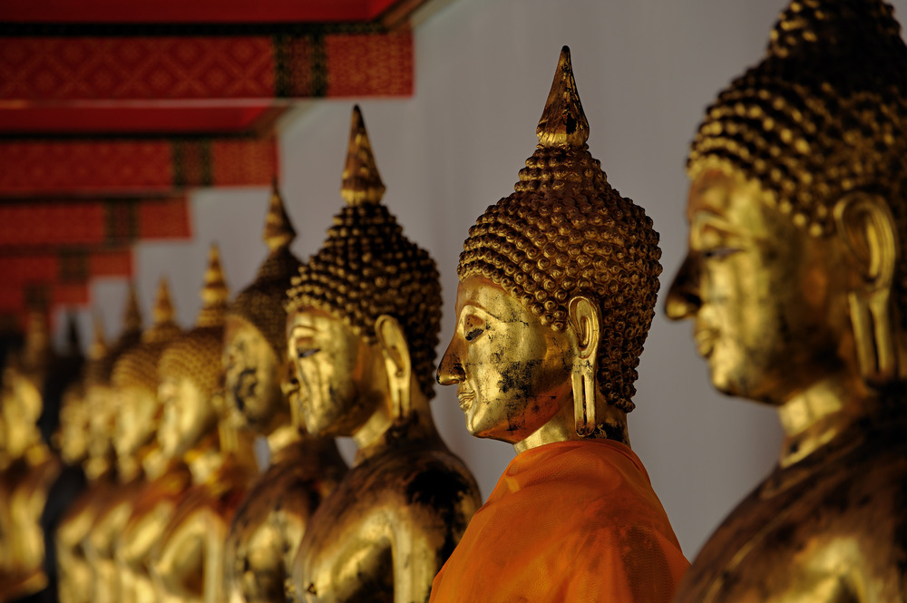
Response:
[{"label": "gold face with dark cheek patch, fourth Buddha from the right", "polygon": [[224,387],[227,404],[259,433],[268,433],[283,410],[278,357],[261,332],[238,316],[224,330]]}]

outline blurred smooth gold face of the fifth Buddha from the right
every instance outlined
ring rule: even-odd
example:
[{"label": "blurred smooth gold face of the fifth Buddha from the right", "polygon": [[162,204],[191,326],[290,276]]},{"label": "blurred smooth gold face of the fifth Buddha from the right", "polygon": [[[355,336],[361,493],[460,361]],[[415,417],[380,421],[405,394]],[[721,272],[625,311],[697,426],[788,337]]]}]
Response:
[{"label": "blurred smooth gold face of the fifth Buddha from the right", "polygon": [[163,406],[158,443],[167,459],[182,457],[217,425],[213,404],[188,375],[161,375],[158,399]]}]

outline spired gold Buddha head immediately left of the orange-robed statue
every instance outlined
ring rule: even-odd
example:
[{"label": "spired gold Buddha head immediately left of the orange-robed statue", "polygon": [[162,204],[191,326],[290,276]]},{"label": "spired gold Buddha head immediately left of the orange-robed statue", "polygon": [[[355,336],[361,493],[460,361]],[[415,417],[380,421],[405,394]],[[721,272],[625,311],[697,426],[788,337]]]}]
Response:
[{"label": "spired gold Buddha head immediately left of the orange-robed statue", "polygon": [[384,192],[356,107],[341,186],[346,206],[288,291],[289,354],[310,433],[352,435],[376,413],[392,423],[429,413],[438,272],[381,203]]}]

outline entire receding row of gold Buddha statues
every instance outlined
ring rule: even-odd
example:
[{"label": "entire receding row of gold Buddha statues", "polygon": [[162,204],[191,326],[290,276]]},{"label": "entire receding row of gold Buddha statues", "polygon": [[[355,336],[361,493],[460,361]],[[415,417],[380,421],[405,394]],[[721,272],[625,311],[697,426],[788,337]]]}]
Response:
[{"label": "entire receding row of gold Buddha statues", "polygon": [[[627,426],[658,233],[592,157],[564,47],[538,146],[469,229],[437,363],[439,275],[383,201],[358,108],[307,261],[275,185],[256,279],[230,300],[212,248],[189,330],[165,282],[151,326],[133,291],[81,369],[37,321],[3,379],[0,599],[907,600],[900,31],[881,0],[792,0],[692,143],[665,310],[785,442],[691,565]],[[484,502],[435,382],[517,452]],[[38,428],[53,396],[59,454]]]}]

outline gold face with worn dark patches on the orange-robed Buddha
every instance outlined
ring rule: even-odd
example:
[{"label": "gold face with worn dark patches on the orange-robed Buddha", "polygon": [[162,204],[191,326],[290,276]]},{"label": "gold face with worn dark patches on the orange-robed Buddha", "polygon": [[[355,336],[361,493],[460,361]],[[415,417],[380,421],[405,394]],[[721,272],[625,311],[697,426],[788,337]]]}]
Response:
[{"label": "gold face with worn dark patches on the orange-robed Buddha", "polygon": [[571,332],[556,333],[484,277],[460,282],[456,328],[438,383],[457,386],[474,436],[522,442],[564,411],[572,413]]}]

